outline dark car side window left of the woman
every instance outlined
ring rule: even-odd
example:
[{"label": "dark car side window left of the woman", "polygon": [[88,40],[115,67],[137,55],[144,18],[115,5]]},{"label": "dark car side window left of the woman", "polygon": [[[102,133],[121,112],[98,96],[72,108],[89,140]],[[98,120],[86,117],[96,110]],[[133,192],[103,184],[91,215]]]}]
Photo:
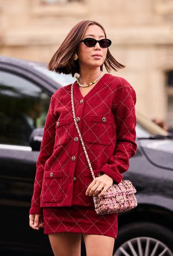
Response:
[{"label": "dark car side window left of the woman", "polygon": [[31,132],[44,126],[49,103],[39,86],[0,71],[0,143],[29,145]]}]

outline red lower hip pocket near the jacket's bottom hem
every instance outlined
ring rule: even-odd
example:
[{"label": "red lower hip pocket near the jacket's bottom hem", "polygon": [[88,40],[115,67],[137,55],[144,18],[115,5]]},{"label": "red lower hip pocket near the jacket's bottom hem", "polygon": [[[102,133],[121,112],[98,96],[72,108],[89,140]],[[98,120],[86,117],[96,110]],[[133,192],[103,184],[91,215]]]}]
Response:
[{"label": "red lower hip pocket near the jacket's bottom hem", "polygon": [[62,171],[45,171],[42,185],[42,199],[45,203],[62,200]]}]

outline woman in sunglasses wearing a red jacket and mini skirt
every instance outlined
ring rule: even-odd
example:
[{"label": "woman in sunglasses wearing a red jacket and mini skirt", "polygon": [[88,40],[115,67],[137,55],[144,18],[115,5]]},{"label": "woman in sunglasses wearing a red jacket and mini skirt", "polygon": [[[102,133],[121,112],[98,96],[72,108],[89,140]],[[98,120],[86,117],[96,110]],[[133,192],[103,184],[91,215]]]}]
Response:
[{"label": "woman in sunglasses wearing a red jacket and mini skirt", "polygon": [[79,74],[76,121],[96,176],[92,180],[67,85],[51,97],[29,216],[34,229],[44,223],[56,256],[80,255],[82,235],[87,256],[109,256],[114,248],[117,213],[97,215],[92,196],[103,196],[113,182],[121,182],[136,153],[136,94],[125,79],[102,74],[103,65],[108,72],[124,67],[111,55],[110,44],[101,24],[79,22],[48,65],[57,73]]}]

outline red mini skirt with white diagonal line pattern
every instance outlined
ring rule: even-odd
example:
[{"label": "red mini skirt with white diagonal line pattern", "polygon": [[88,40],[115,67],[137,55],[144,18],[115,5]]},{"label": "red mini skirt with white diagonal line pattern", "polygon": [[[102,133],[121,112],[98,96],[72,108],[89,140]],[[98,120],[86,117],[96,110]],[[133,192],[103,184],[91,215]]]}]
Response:
[{"label": "red mini skirt with white diagonal line pattern", "polygon": [[76,232],[116,238],[117,213],[97,215],[92,206],[44,207],[44,234]]}]

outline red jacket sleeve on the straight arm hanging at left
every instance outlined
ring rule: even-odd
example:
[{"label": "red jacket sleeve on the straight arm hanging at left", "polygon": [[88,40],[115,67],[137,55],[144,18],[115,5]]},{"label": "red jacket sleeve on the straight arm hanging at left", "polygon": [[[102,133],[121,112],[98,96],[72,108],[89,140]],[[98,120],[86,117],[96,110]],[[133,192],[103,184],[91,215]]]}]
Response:
[{"label": "red jacket sleeve on the straight arm hanging at left", "polygon": [[44,125],[41,149],[37,158],[34,193],[32,195],[29,214],[42,214],[42,208],[40,207],[40,195],[42,190],[44,165],[48,158],[52,155],[55,143],[55,126],[57,117],[55,117],[54,114],[54,95],[55,94],[53,94],[50,99],[49,110]]}]

